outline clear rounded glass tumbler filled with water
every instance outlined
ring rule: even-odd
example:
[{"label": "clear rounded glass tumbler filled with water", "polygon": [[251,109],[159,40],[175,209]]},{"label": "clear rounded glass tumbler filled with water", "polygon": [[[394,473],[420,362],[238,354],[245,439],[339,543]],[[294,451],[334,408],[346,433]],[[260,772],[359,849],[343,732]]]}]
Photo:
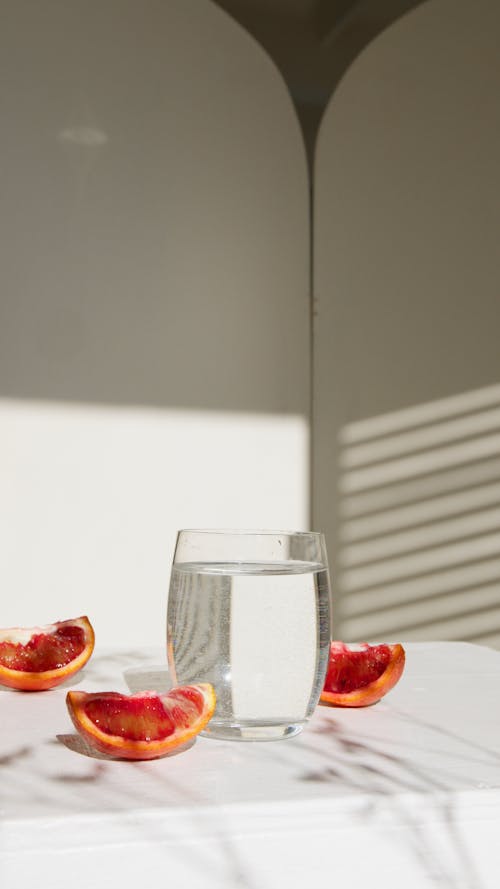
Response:
[{"label": "clear rounded glass tumbler filled with water", "polygon": [[168,663],[175,684],[214,686],[217,706],[205,736],[255,741],[296,735],[318,703],[329,644],[322,534],[178,533]]}]

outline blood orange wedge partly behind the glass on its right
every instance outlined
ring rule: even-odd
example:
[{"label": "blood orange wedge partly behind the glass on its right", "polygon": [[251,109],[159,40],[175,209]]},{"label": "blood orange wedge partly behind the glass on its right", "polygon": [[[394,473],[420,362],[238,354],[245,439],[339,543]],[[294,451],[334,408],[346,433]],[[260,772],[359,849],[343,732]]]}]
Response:
[{"label": "blood orange wedge partly behind the glass on its right", "polygon": [[349,648],[332,642],[320,701],[337,707],[366,707],[384,697],[399,680],[405,665],[402,645]]}]

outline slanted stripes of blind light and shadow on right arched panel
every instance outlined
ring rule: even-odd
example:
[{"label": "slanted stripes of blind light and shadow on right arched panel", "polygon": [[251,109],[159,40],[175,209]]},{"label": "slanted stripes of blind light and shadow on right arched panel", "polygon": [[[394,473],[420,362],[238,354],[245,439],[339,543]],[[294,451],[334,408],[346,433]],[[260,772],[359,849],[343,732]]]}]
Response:
[{"label": "slanted stripes of blind light and shadow on right arched panel", "polygon": [[343,637],[500,646],[500,384],[339,439]]}]

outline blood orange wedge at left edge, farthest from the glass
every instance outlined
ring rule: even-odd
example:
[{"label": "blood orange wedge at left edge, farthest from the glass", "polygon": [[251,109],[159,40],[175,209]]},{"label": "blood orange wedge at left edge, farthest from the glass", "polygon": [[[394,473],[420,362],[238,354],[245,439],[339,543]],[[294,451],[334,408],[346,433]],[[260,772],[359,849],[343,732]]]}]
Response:
[{"label": "blood orange wedge at left edge, farthest from the glass", "polygon": [[80,670],[93,650],[88,617],[0,630],[0,684],[23,691],[54,688]]}]

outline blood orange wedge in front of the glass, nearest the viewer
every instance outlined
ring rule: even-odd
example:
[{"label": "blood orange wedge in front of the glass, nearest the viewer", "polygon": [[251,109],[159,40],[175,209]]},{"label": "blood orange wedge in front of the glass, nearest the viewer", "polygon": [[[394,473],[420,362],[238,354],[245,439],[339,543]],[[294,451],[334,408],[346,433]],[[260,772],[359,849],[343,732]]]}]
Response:
[{"label": "blood orange wedge in front of the glass, nearest the viewer", "polygon": [[214,712],[215,692],[207,683],[166,695],[70,691],[66,704],[76,730],[96,750],[122,759],[156,759],[201,732]]}]

